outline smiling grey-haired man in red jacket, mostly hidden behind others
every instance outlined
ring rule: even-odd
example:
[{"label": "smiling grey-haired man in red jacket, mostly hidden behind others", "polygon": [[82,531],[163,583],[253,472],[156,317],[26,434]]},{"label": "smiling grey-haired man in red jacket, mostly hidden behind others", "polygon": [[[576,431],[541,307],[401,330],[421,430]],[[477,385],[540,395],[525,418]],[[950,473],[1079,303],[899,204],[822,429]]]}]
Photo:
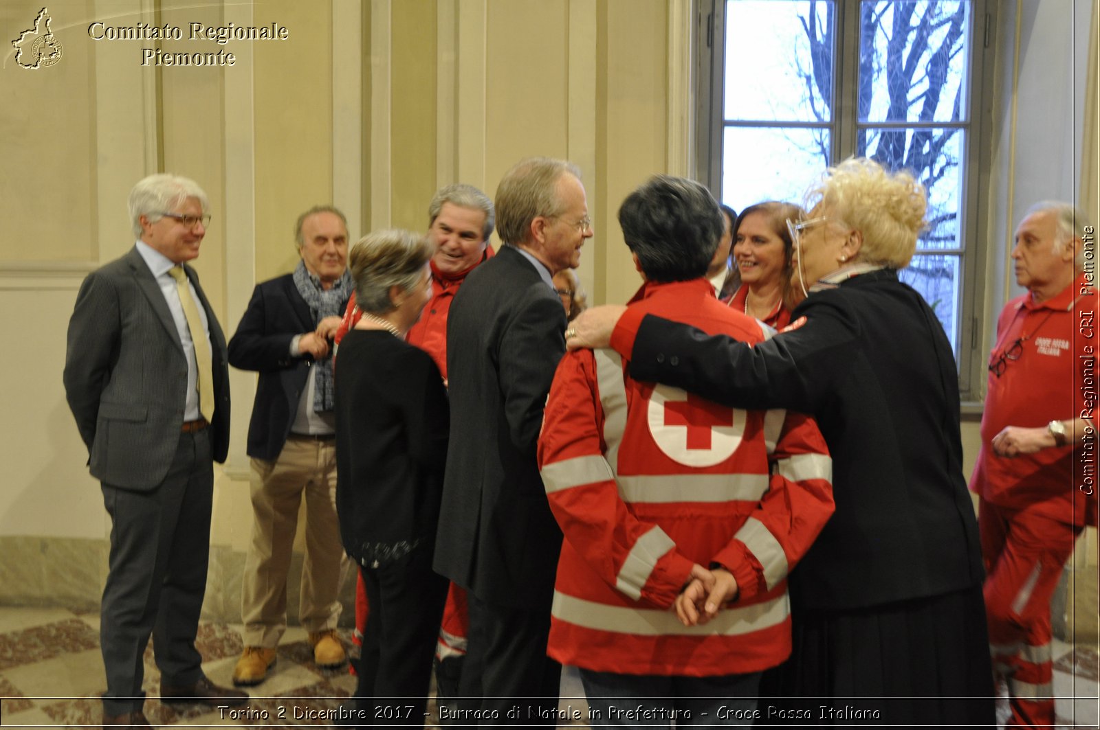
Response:
[{"label": "smiling grey-haired man in red jacket, mostly hidden behind others", "polygon": [[[431,355],[444,380],[447,316],[451,310],[451,301],[466,275],[493,256],[488,237],[493,234],[495,222],[493,201],[472,185],[460,182],[444,186],[436,191],[428,204],[428,235],[438,246],[430,262],[431,299],[424,308],[420,320],[409,330],[407,341]],[[352,294],[343,323],[336,334],[337,344],[343,339],[344,333],[355,325],[359,318],[355,295]],[[369,608],[362,582],[359,587],[355,599],[355,624],[358,633],[361,634]],[[466,653],[466,624],[465,593],[451,584],[447,607],[443,610],[443,623],[439,631],[439,646],[436,650],[436,682],[438,698],[441,701],[458,694],[462,657]]]}]

